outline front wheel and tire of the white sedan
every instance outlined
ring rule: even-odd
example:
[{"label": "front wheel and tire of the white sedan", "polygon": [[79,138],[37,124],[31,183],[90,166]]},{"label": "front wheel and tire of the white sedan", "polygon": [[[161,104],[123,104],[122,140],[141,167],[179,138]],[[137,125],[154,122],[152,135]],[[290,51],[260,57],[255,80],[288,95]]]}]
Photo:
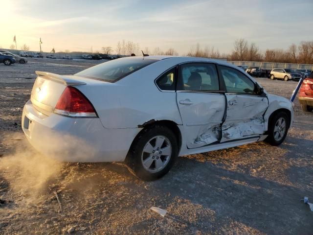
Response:
[{"label": "front wheel and tire of the white sedan", "polygon": [[290,120],[284,111],[274,114],[269,120],[268,137],[265,141],[273,146],[281,144],[287,136],[289,126]]}]

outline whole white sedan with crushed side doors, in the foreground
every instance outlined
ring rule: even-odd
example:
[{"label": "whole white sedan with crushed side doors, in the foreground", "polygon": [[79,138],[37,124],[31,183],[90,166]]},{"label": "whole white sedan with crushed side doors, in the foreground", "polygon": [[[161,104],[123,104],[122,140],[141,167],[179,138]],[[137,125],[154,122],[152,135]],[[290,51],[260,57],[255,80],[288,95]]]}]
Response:
[{"label": "whole white sedan with crushed side doors, in the foreground", "polygon": [[178,156],[279,145],[293,121],[288,99],[220,60],[134,56],[74,75],[36,73],[22,129],[38,151],[66,162],[125,161],[144,180],[166,174]]}]

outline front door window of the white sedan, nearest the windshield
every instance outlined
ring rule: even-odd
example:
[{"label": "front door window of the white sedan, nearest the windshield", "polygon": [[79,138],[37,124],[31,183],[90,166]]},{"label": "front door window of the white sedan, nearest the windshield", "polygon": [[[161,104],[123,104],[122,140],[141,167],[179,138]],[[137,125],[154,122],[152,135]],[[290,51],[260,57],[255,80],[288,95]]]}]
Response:
[{"label": "front door window of the white sedan, nearest the windshield", "polygon": [[223,76],[227,93],[256,94],[255,84],[242,72],[219,66]]}]

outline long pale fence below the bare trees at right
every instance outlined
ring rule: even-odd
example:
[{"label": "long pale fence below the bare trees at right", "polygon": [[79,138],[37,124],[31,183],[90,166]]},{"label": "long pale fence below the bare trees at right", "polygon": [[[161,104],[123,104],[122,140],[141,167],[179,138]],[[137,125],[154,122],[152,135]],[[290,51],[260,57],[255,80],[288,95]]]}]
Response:
[{"label": "long pale fence below the bare trees at right", "polygon": [[289,63],[271,63],[271,62],[255,62],[255,61],[227,61],[233,65],[244,65],[247,67],[260,67],[264,70],[278,69],[304,69],[313,71],[313,65],[306,64],[289,64]]}]

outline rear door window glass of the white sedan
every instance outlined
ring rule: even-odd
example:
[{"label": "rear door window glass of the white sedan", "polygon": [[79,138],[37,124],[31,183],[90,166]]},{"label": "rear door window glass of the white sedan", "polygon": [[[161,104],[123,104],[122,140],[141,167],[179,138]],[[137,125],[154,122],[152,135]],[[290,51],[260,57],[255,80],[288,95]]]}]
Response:
[{"label": "rear door window glass of the white sedan", "polygon": [[179,89],[181,91],[218,91],[219,78],[214,64],[190,63],[180,67]]}]

